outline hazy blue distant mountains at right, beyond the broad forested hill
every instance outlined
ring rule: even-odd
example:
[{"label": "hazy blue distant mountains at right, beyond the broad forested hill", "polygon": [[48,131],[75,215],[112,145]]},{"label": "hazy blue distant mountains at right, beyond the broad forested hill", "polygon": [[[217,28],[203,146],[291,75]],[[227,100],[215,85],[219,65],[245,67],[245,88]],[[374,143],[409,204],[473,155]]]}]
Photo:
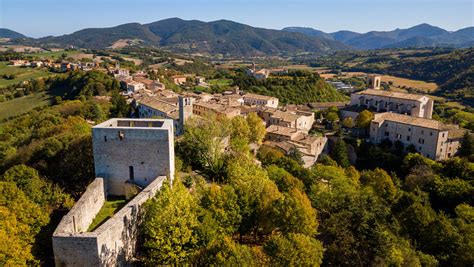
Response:
[{"label": "hazy blue distant mountains at right, beyond the broad forested hill", "polygon": [[363,50],[437,46],[470,47],[474,44],[474,27],[449,32],[426,23],[408,29],[367,33],[351,31],[326,33],[305,27],[288,27],[284,28],[283,31],[299,32],[308,36],[338,41]]}]

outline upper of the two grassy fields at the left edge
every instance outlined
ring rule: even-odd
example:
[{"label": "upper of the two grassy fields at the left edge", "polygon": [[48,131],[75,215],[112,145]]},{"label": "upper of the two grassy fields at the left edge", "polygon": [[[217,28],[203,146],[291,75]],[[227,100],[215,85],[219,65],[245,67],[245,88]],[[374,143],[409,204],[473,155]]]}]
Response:
[{"label": "upper of the two grassy fields at the left edge", "polygon": [[[15,78],[8,80],[2,78],[2,75],[14,75]],[[23,68],[15,66],[7,66],[6,62],[0,62],[0,87],[6,87],[11,84],[19,83],[29,79],[35,79],[39,77],[46,77],[54,75],[44,68]]]}]

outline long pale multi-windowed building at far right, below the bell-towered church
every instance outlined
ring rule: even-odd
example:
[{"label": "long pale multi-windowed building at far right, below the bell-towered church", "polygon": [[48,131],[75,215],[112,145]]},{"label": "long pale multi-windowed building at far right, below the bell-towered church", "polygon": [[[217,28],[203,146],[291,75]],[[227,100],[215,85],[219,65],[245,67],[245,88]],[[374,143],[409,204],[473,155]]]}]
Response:
[{"label": "long pale multi-windowed building at far right, below the bell-towered church", "polygon": [[413,147],[423,156],[445,160],[456,155],[464,131],[442,122],[409,115],[385,112],[375,114],[370,124],[370,141],[401,142]]}]

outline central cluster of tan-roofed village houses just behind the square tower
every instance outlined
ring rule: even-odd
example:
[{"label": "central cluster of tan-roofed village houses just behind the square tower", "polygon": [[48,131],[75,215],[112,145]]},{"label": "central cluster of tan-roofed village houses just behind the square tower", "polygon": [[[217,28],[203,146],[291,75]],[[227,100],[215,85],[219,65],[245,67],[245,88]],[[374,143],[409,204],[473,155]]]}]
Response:
[{"label": "central cluster of tan-roofed village houses just behind the square tower", "polygon": [[[315,120],[314,112],[279,107],[276,97],[242,93],[235,88],[214,95],[177,94],[164,90],[153,96],[137,97],[135,100],[140,118],[173,119],[177,135],[184,132],[185,121],[190,116],[233,118],[254,112],[262,118],[267,129],[265,144],[286,153],[292,148],[298,149],[303,155],[306,167],[313,165],[326,148],[325,137],[308,134]],[[288,135],[289,132],[293,134]]]}]

